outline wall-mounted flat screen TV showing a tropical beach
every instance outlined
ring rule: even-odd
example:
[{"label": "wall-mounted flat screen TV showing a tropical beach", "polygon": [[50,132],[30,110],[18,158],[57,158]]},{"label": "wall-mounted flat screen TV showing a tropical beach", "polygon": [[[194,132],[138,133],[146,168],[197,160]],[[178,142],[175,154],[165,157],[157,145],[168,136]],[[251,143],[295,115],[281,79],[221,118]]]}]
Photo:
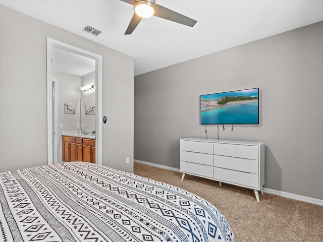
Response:
[{"label": "wall-mounted flat screen TV showing a tropical beach", "polygon": [[259,88],[200,96],[201,125],[258,125]]}]

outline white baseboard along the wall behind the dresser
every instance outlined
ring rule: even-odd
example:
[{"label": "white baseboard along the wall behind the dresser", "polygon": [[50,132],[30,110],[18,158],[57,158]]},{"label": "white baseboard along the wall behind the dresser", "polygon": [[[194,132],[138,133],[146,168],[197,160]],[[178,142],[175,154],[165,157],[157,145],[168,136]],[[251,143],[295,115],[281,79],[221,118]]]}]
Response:
[{"label": "white baseboard along the wall behind the dresser", "polygon": [[[166,165],[154,164],[154,163],[150,163],[150,162],[142,161],[142,160],[134,160],[134,161],[138,162],[138,163],[145,164],[145,165],[150,165],[150,166],[154,166],[154,167],[159,167],[159,168],[163,168],[163,169],[167,169],[167,170],[173,170],[173,171],[180,172],[180,169],[166,166]],[[284,198],[290,198],[290,199],[294,199],[297,201],[302,201],[302,202],[306,202],[306,203],[312,203],[312,204],[323,206],[323,200],[316,199],[316,198],[305,197],[305,196],[301,196],[301,195],[297,195],[297,194],[293,194],[293,193],[286,193],[286,192],[273,190],[273,189],[269,189],[269,188],[263,188],[263,192],[267,193],[267,194],[277,195],[277,196],[284,197]]]}]

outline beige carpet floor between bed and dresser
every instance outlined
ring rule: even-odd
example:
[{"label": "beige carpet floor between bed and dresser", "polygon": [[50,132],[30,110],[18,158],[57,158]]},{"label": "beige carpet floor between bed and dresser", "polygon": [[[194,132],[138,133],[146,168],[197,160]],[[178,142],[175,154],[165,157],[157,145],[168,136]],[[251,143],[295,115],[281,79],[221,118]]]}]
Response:
[{"label": "beige carpet floor between bed and dresser", "polygon": [[179,172],[134,163],[134,173],[182,188],[211,202],[228,220],[237,242],[323,241],[323,206],[254,192]]}]

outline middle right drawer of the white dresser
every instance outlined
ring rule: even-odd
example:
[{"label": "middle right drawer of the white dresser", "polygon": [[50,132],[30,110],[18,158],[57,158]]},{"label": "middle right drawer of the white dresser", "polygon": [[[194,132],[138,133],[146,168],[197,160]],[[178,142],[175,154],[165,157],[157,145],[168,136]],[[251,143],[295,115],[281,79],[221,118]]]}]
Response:
[{"label": "middle right drawer of the white dresser", "polygon": [[258,160],[214,155],[214,166],[258,174]]}]

